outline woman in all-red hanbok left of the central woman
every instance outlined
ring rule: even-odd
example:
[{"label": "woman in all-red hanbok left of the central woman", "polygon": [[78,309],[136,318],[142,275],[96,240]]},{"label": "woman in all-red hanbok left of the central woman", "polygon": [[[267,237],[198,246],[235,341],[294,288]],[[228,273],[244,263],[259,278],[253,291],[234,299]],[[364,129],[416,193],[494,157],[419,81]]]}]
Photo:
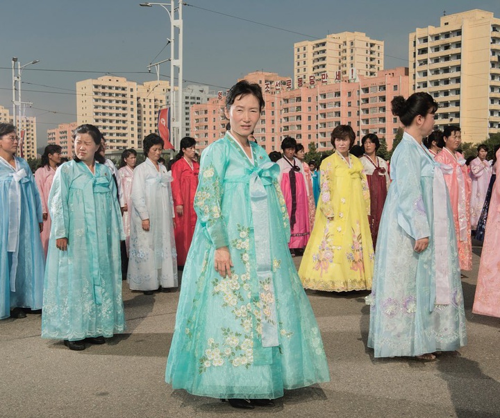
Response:
[{"label": "woman in all-red hanbok left of the central woman", "polygon": [[172,165],[172,195],[176,211],[174,229],[177,265],[183,266],[188,256],[197,215],[194,211],[194,194],[198,187],[199,164],[194,161],[196,141],[191,137],[181,139],[181,150]]}]

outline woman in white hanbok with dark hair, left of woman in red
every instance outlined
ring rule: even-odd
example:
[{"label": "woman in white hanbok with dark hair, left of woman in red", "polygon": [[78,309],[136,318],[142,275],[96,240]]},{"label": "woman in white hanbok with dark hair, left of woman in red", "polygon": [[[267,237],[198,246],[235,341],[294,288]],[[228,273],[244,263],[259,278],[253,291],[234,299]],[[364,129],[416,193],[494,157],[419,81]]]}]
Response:
[{"label": "woman in white hanbok with dark hair, left of woman in red", "polygon": [[127,281],[131,290],[152,295],[160,288],[177,286],[177,253],[174,240],[172,175],[158,159],[163,139],[144,138],[147,159],[134,170],[131,194],[131,232]]}]

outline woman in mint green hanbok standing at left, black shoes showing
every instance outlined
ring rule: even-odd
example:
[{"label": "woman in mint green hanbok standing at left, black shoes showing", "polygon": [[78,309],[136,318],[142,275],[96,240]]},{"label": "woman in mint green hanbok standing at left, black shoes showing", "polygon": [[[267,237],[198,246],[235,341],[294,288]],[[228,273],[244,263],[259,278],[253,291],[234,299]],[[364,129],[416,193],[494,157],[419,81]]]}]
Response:
[{"label": "woman in mint green hanbok standing at left, black shoes showing", "polygon": [[[58,167],[45,270],[42,338],[72,350],[103,344],[125,329],[120,240],[125,239],[113,174],[94,125],[74,131],[76,157]],[[100,164],[99,164],[100,163]]]}]

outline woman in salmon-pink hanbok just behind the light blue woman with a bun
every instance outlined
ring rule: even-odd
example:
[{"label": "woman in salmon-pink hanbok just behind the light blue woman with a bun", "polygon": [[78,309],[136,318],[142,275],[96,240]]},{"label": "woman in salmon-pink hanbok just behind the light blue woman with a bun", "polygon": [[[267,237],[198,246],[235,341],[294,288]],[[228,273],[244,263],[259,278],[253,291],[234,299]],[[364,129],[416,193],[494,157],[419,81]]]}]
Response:
[{"label": "woman in salmon-pink hanbok just behind the light blue woman with a bun", "polygon": [[444,128],[442,141],[438,144],[438,146],[442,146],[442,151],[434,159],[442,164],[444,181],[448,186],[458,242],[460,270],[472,270],[472,239],[469,216],[471,179],[463,155],[456,152],[461,142],[460,127],[447,126]]}]

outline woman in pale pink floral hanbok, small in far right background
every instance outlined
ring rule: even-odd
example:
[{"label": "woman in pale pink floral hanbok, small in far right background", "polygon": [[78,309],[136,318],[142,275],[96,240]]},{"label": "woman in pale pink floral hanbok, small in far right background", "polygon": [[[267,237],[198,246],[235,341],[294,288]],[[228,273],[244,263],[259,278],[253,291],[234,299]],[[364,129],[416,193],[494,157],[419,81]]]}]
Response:
[{"label": "woman in pale pink floral hanbok, small in far right background", "polygon": [[478,146],[478,156],[470,164],[470,176],[472,180],[472,194],[470,205],[471,227],[476,231],[479,216],[483,210],[483,204],[486,198],[487,188],[490,185],[492,168],[486,159],[488,152],[484,144]]}]

